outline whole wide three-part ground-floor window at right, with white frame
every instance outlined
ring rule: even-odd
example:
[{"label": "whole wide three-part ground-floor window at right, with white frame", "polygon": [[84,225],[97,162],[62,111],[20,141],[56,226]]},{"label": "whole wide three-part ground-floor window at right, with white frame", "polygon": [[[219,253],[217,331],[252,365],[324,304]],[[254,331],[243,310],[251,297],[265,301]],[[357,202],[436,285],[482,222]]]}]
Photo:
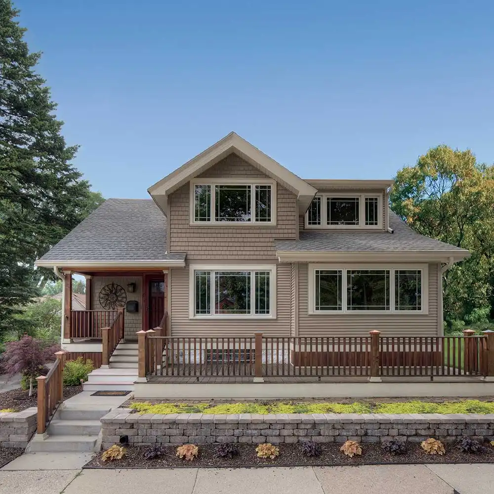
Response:
[{"label": "whole wide three-part ground-floor window at right, with white frame", "polygon": [[309,265],[309,313],[427,313],[427,265]]}]

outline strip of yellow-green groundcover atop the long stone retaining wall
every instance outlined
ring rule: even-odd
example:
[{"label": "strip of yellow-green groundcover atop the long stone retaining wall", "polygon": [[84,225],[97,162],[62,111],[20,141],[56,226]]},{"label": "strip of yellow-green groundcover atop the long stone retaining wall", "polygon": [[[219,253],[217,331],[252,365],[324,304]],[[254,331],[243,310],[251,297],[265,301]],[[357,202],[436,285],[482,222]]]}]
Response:
[{"label": "strip of yellow-green groundcover atop the long stone retaining wall", "polygon": [[494,413],[494,402],[463,400],[458,402],[428,403],[132,403],[138,413]]}]

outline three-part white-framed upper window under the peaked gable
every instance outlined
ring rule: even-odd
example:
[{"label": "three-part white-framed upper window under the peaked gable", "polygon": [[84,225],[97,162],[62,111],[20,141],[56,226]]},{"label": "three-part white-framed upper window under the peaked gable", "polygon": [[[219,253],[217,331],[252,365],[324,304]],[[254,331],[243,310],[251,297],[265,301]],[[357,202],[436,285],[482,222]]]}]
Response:
[{"label": "three-part white-framed upper window under the peaked gable", "polygon": [[274,224],[275,192],[273,181],[192,181],[191,223]]}]

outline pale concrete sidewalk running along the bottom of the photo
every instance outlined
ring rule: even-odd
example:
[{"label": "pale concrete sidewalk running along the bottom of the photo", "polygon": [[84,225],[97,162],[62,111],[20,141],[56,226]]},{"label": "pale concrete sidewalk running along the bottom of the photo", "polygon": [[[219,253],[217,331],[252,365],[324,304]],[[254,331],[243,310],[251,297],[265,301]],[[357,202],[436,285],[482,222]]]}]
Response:
[{"label": "pale concrete sidewalk running along the bottom of the photo", "polygon": [[[62,458],[59,458],[62,461]],[[0,471],[15,494],[486,494],[494,465]],[[143,491],[144,490],[144,491]]]}]

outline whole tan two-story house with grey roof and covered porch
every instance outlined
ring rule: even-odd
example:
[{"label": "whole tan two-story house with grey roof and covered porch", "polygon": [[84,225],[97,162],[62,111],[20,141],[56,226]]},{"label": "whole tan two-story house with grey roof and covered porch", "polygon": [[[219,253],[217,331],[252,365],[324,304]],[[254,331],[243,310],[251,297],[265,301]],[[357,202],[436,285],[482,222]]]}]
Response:
[{"label": "whole tan two-story house with grey roof and covered porch", "polygon": [[[254,333],[361,345],[373,329],[441,336],[442,273],[469,253],[407,226],[388,207],[392,186],[301,179],[232,132],[152,185],[151,199],[107,200],[37,262],[64,280],[62,345],[120,370],[124,387],[137,373],[136,333],[153,328],[177,338],[178,365],[246,360]],[[72,273],[86,278],[84,311]],[[192,351],[190,338],[211,347]],[[274,357],[271,347],[271,362],[288,348],[299,362],[324,350],[288,342]]]}]

